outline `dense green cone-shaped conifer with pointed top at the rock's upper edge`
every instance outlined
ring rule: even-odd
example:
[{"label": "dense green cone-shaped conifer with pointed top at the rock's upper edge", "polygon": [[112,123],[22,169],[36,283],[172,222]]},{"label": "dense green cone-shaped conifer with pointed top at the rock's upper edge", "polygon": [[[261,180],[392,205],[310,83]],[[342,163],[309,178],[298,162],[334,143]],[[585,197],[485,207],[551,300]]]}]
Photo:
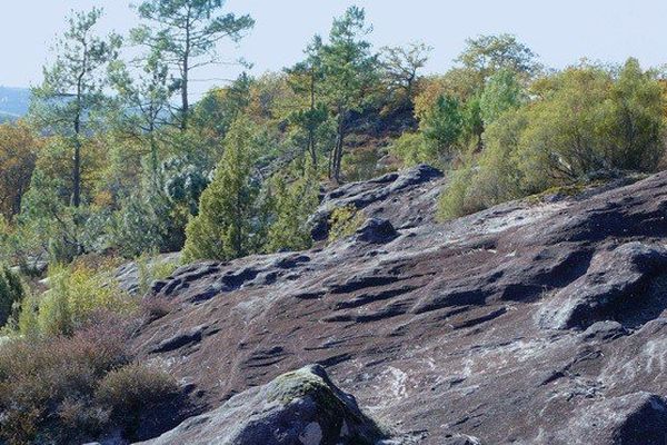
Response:
[{"label": "dense green cone-shaped conifer with pointed top at the rock's upper edge", "polygon": [[259,186],[252,178],[257,134],[249,120],[236,120],[211,185],[201,195],[199,215],[186,228],[183,260],[238,258],[259,250]]}]

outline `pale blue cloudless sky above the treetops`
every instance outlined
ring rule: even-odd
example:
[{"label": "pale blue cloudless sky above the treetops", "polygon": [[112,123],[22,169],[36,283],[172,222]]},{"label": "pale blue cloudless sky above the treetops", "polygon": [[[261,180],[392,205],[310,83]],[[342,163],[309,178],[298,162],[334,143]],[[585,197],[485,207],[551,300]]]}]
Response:
[{"label": "pale blue cloudless sky above the treetops", "polygon": [[[0,86],[40,81],[71,10],[103,7],[100,30],[125,33],[137,23],[130,1],[0,0]],[[499,32],[516,34],[552,68],[583,57],[623,62],[633,56],[644,67],[667,63],[665,0],[228,0],[226,10],[250,13],[257,23],[238,47],[223,44],[220,52],[227,60],[252,62],[253,75],[279,70],[301,58],[313,34],[326,36],[332,18],[350,4],[366,9],[376,48],[412,41],[431,46],[426,72],[450,68],[467,38]],[[229,66],[200,70],[193,96],[239,72]]]}]

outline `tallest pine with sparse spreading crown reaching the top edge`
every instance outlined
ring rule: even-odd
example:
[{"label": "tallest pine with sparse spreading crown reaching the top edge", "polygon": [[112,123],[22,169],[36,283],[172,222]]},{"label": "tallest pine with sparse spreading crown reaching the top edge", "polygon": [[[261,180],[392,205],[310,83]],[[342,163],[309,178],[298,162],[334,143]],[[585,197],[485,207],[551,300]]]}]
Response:
[{"label": "tallest pine with sparse spreading crown reaching the top edge", "polygon": [[132,30],[132,38],[151,49],[160,49],[176,72],[183,130],[190,112],[192,71],[219,63],[218,43],[225,39],[238,42],[255,26],[250,16],[222,13],[225,3],[225,0],[146,0],[137,9],[148,23]]}]

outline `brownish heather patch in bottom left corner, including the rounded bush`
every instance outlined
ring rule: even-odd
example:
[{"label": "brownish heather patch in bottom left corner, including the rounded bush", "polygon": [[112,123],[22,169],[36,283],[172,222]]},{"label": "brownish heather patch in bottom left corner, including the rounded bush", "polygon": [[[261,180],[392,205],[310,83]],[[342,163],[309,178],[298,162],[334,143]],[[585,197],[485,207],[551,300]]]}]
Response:
[{"label": "brownish heather patch in bottom left corner, including the rounded bush", "polygon": [[165,370],[132,362],[135,325],[99,314],[72,336],[16,337],[0,345],[0,442],[83,443],[138,421],[178,392]]}]

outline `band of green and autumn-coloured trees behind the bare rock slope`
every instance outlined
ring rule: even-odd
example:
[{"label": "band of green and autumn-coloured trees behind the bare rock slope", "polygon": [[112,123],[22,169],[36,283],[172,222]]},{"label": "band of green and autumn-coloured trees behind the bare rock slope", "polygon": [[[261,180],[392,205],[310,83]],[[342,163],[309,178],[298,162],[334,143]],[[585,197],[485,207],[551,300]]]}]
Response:
[{"label": "band of green and autumn-coloured trees behind the bare rock slope", "polygon": [[302,249],[322,188],[420,162],[448,171],[440,215],[451,218],[654,171],[664,157],[664,73],[635,59],[552,70],[511,34],[479,36],[451,69],[425,76],[430,47],[376,49],[364,9],[350,7],[299,62],[192,102],[197,69],[228,62],[218,43],[242,42],[253,19],[222,0],[135,11],[128,36],[101,36],[100,9],[73,13],[29,115],[0,126],[11,263]]}]

